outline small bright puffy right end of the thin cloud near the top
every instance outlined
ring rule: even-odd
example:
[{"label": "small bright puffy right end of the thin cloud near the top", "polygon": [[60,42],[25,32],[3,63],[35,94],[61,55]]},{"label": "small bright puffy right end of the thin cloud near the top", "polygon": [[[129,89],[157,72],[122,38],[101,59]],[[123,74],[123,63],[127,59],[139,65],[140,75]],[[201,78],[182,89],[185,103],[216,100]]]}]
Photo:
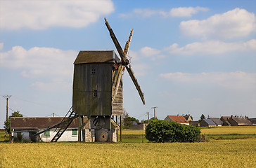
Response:
[{"label": "small bright puffy right end of the thin cloud near the top", "polygon": [[179,7],[179,8],[172,8],[169,11],[169,15],[172,17],[191,17],[192,15],[200,12],[200,11],[207,11],[208,8],[203,8],[203,7]]}]

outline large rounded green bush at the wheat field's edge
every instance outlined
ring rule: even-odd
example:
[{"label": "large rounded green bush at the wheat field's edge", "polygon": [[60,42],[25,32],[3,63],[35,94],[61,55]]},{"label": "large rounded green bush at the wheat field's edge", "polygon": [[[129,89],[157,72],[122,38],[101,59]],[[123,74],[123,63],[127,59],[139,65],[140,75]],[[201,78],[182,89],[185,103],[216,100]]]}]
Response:
[{"label": "large rounded green bush at the wheat field's edge", "polygon": [[153,142],[200,141],[200,130],[167,120],[152,120],[146,127],[146,139]]}]

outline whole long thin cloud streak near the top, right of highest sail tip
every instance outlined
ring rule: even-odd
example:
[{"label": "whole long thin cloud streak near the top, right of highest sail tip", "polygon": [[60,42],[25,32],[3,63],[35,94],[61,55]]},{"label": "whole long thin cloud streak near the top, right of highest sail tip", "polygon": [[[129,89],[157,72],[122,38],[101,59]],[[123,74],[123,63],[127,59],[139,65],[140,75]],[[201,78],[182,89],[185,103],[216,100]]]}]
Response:
[{"label": "whole long thin cloud streak near the top, right of highest sail tip", "polygon": [[132,10],[132,13],[122,13],[120,14],[121,18],[131,18],[141,16],[143,18],[148,18],[153,15],[160,15],[162,17],[191,17],[192,15],[200,12],[207,11],[208,8],[203,7],[179,7],[179,8],[171,8],[169,12],[165,10],[153,10],[149,8],[136,8]]}]

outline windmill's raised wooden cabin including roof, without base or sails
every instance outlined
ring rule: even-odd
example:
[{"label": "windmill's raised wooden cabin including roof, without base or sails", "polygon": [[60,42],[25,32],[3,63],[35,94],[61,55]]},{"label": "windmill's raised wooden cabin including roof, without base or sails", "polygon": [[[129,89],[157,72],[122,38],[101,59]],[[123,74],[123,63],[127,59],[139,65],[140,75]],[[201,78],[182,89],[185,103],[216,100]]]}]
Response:
[{"label": "windmill's raised wooden cabin including roof, without base or sails", "polygon": [[122,75],[115,93],[118,62],[113,50],[80,51],[75,60],[73,111],[79,116],[121,116]]}]

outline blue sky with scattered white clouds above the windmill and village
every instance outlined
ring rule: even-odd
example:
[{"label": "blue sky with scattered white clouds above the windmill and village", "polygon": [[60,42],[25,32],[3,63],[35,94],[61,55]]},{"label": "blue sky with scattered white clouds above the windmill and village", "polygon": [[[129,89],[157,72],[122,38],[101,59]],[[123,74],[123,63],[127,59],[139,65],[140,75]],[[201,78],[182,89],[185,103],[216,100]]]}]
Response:
[{"label": "blue sky with scattered white clouds above the windmill and village", "polygon": [[[0,0],[0,127],[9,114],[65,116],[79,50],[115,50],[104,17],[129,57],[146,105],[124,71],[124,109],[146,119],[190,113],[256,118],[255,1]],[[13,111],[12,111],[13,110]]]}]

